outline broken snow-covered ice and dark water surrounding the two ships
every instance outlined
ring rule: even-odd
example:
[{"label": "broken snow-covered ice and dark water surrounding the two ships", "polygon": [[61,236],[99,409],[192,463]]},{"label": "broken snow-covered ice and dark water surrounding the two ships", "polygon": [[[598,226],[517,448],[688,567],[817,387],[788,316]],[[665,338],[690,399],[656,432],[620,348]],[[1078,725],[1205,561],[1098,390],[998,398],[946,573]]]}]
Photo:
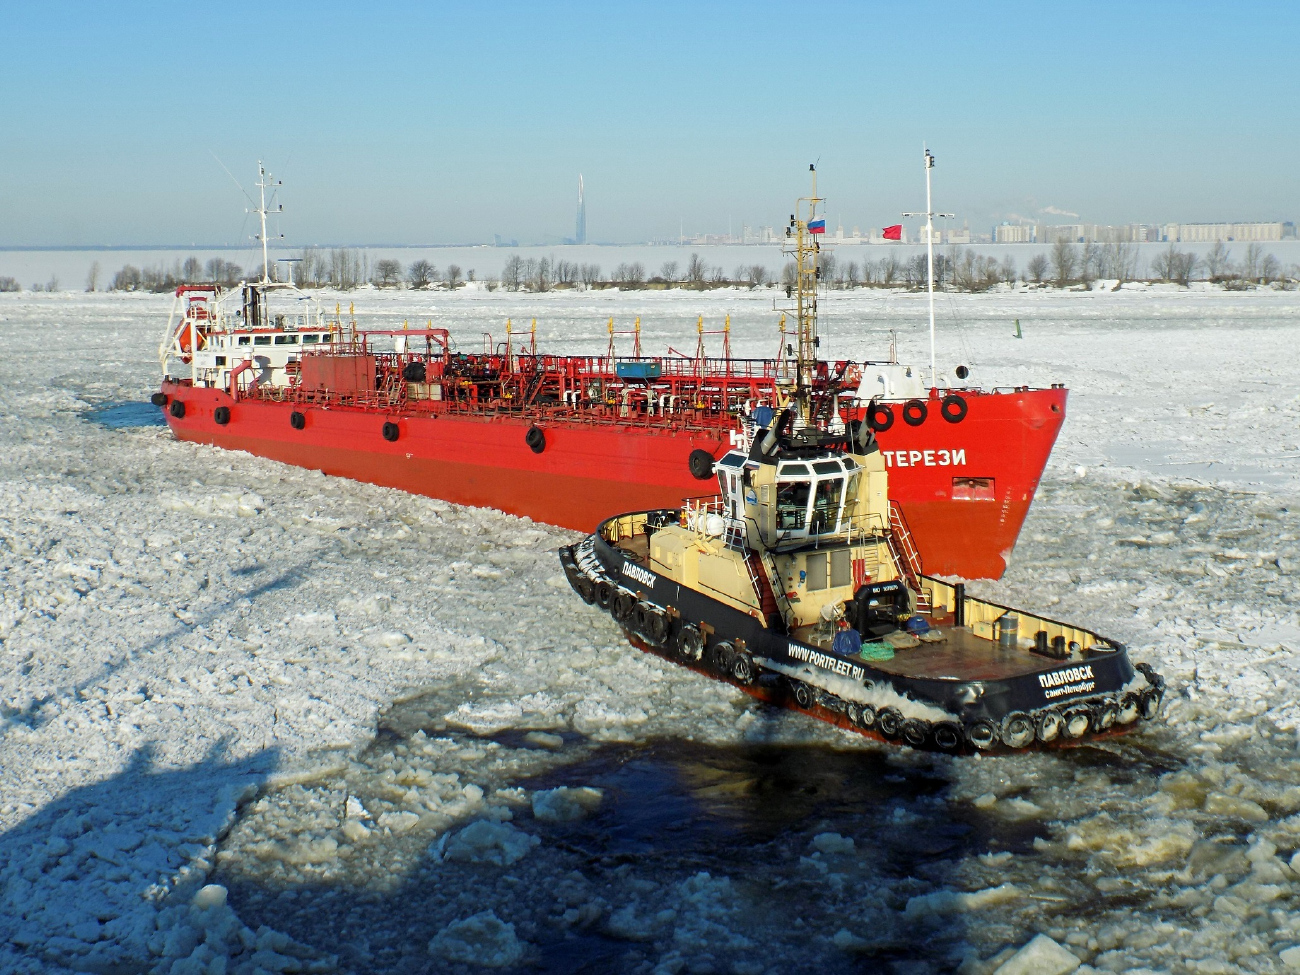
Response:
[{"label": "broken snow-covered ice and dark water surrounding the two ships", "polygon": [[[770,300],[359,311],[472,344],[536,315],[572,351],[731,313],[767,354]],[[0,970],[992,972],[1040,935],[1080,970],[1296,965],[1296,292],[940,299],[941,363],[1071,387],[979,592],[1173,686],[1136,737],[956,762],[629,649],[555,585],[572,533],[87,419],[147,398],[169,303],[0,295]],[[928,359],[915,295],[823,312],[831,356],[896,326]]]}]

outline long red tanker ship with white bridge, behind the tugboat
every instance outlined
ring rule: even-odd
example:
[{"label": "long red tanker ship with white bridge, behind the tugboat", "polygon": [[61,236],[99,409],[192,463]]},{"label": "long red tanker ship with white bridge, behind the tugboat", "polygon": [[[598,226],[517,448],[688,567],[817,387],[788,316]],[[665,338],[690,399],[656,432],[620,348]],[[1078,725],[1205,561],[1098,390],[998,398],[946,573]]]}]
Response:
[{"label": "long red tanker ship with white bridge, behind the tugboat", "polygon": [[[445,329],[361,330],[264,280],[182,286],[155,403],[186,441],[564,528],[677,507],[763,411],[827,433],[866,421],[927,573],[998,577],[1065,419],[1066,390],[940,390],[911,367],[816,358],[816,252],[792,220],[798,350],[775,359],[547,355],[534,334],[458,351]],[[794,294],[797,291],[797,295]],[[235,302],[234,299],[239,300]],[[280,313],[272,304],[291,300]]]}]

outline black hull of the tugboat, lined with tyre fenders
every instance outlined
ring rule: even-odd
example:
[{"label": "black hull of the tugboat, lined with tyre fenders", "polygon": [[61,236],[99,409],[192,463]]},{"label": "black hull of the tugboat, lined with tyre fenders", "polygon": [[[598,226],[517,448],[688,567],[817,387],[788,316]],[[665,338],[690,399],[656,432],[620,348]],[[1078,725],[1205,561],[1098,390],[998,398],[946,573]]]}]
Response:
[{"label": "black hull of the tugboat, lined with tyre fenders", "polygon": [[[649,516],[668,523],[677,512]],[[560,549],[560,564],[575,592],[611,612],[634,645],[868,737],[949,753],[1020,750],[1127,732],[1160,711],[1164,680],[1145,664],[1135,670],[1114,641],[1087,659],[1010,676],[890,673],[770,629],[603,534]]]}]

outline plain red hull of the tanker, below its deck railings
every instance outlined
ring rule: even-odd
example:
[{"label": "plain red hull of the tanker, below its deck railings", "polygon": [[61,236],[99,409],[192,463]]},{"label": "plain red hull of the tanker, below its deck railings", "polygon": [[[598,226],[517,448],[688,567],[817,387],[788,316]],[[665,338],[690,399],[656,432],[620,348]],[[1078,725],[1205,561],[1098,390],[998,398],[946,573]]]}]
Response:
[{"label": "plain red hull of the tanker, below its deck railings", "polygon": [[[165,411],[179,439],[580,532],[621,511],[679,507],[684,497],[714,493],[716,482],[693,477],[688,458],[693,450],[720,456],[731,446],[727,426],[394,415],[237,400],[220,389],[174,381],[161,391],[185,404],[179,419]],[[944,420],[931,400],[920,425],[900,420],[878,436],[890,468],[890,498],[904,510],[926,572],[997,578],[1065,419],[1066,390],[962,395],[968,411],[961,422]],[[230,411],[224,425],[216,422],[217,407]],[[306,419],[300,430],[290,425],[295,410]],[[381,436],[386,421],[398,422],[394,442]],[[541,452],[525,443],[533,425],[545,430]]]}]

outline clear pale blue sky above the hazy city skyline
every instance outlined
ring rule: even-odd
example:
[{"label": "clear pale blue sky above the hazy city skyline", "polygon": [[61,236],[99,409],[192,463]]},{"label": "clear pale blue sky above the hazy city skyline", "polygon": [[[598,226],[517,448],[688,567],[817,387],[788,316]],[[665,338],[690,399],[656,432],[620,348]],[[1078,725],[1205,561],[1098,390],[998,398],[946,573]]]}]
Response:
[{"label": "clear pale blue sky above the hazy city skyline", "polygon": [[[1294,220],[1294,3],[9,3],[0,246]],[[1062,216],[1053,216],[1052,211]],[[958,222],[959,222],[958,220]]]}]

